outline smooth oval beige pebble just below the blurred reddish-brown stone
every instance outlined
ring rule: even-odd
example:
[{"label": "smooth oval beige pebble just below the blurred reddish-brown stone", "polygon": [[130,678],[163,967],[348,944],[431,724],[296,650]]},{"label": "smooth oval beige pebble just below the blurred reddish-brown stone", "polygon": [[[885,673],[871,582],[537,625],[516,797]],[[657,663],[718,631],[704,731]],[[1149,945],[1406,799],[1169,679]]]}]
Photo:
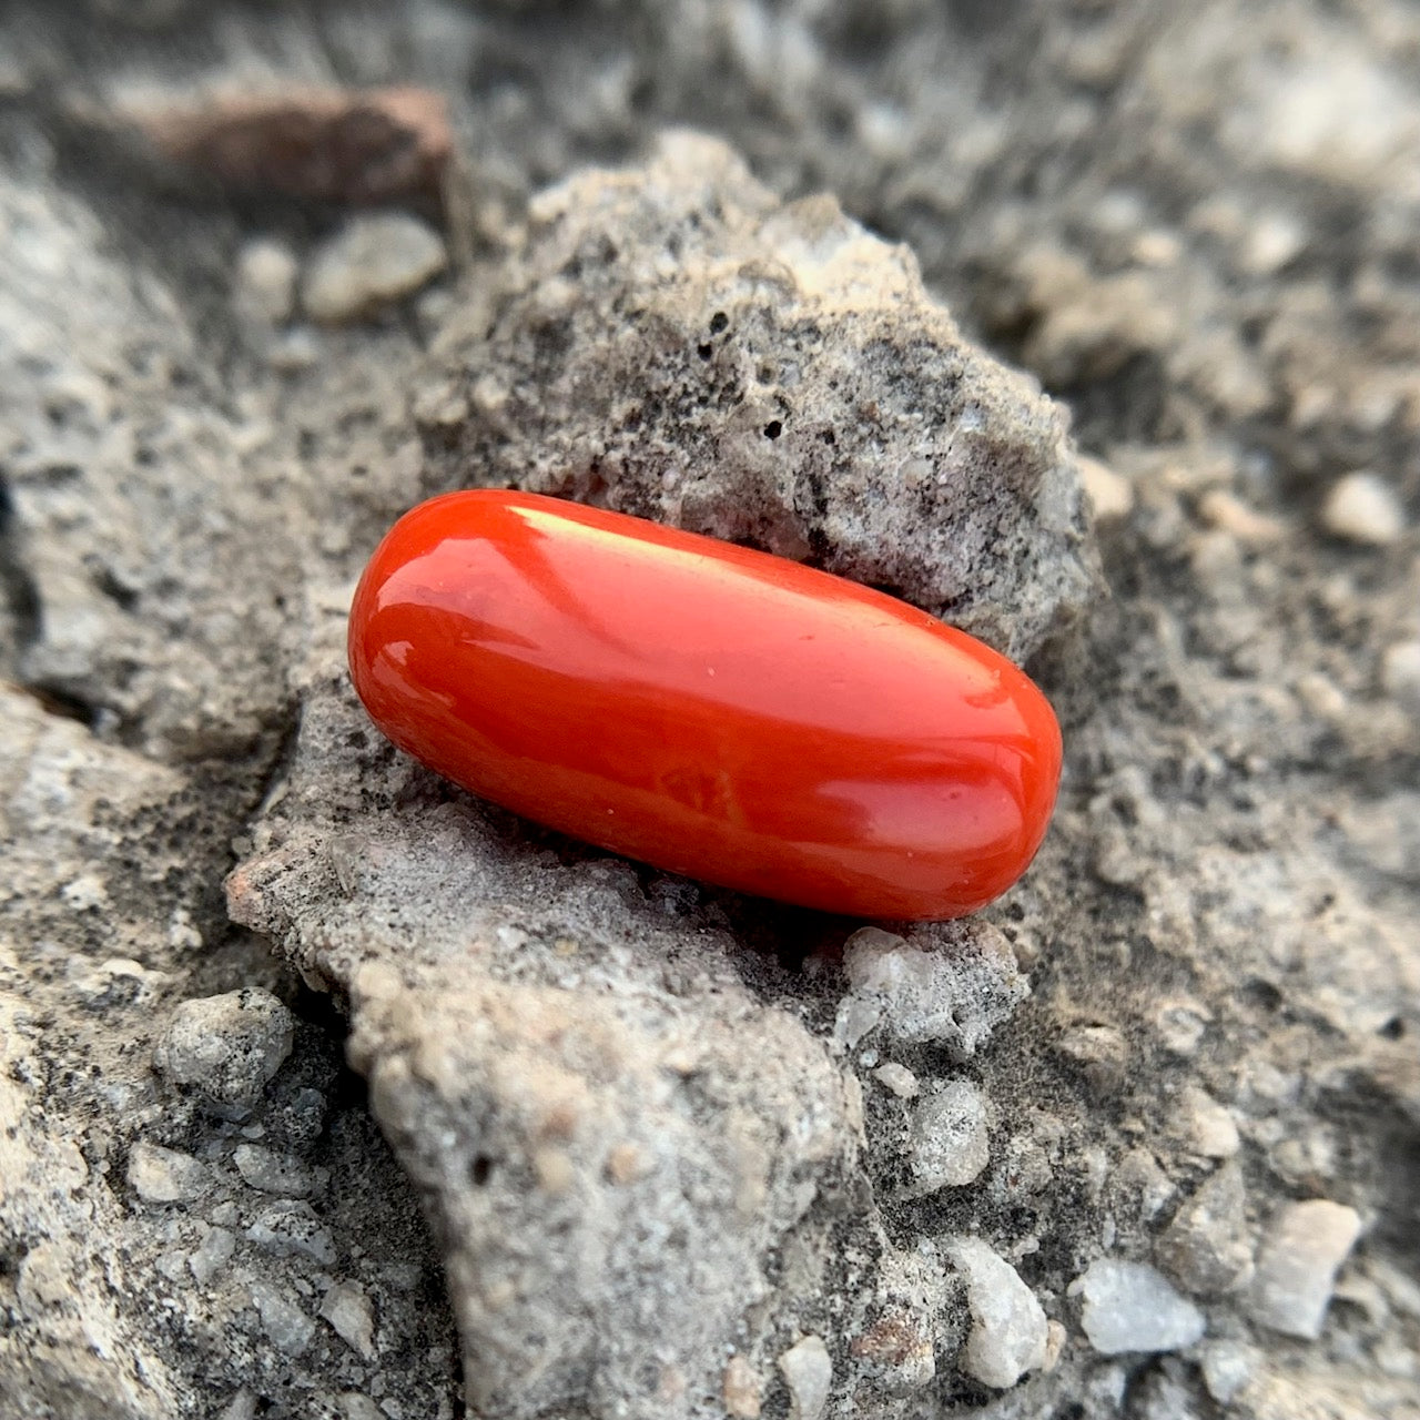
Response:
[{"label": "smooth oval beige pebble just below the blurred reddish-brown stone", "polygon": [[301,304],[317,321],[359,320],[412,295],[447,261],[439,233],[409,213],[354,217],[311,257]]}]

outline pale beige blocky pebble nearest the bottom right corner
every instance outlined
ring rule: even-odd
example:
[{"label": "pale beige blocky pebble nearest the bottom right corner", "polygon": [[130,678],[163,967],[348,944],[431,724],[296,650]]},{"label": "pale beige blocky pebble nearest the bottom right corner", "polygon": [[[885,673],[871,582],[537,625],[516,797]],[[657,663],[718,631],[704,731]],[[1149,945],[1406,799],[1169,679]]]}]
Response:
[{"label": "pale beige blocky pebble nearest the bottom right corner", "polygon": [[1336,1274],[1359,1237],[1355,1208],[1328,1198],[1287,1204],[1258,1254],[1252,1319],[1288,1336],[1321,1336]]}]

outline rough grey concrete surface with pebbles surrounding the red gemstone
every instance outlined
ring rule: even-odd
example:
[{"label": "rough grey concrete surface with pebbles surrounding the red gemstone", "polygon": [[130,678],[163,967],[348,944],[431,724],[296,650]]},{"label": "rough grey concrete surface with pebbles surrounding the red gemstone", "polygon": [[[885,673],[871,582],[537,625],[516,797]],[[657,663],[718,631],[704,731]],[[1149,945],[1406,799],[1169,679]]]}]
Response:
[{"label": "rough grey concrete surface with pebbles surrounding the red gemstone", "polygon": [[[1416,230],[1402,0],[9,7],[0,1416],[1420,1416]],[[476,484],[1025,660],[1035,866],[396,754],[349,594]]]}]

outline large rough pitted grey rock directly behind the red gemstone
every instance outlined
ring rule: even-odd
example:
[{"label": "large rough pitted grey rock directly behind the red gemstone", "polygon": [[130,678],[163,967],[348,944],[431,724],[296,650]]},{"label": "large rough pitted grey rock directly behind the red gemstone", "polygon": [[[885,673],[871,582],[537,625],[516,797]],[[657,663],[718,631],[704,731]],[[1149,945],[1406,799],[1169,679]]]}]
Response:
[{"label": "large rough pitted grey rock directly behind the red gemstone", "polygon": [[831,197],[663,136],[537,197],[497,312],[442,334],[427,491],[518,483],[812,558],[1015,659],[1078,629],[1098,584],[1059,410]]}]

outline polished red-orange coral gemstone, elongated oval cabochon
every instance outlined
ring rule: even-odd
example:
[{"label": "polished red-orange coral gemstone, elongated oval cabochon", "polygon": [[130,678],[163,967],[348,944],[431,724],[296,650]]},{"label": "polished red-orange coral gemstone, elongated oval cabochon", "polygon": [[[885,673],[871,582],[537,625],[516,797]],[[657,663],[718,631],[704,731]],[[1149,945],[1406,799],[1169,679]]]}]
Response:
[{"label": "polished red-orange coral gemstone, elongated oval cabochon", "polygon": [[798,562],[525,493],[405,514],[355,689],[430,768],[670,872],[862,917],[973,912],[1035,855],[1061,736],[964,632]]}]

